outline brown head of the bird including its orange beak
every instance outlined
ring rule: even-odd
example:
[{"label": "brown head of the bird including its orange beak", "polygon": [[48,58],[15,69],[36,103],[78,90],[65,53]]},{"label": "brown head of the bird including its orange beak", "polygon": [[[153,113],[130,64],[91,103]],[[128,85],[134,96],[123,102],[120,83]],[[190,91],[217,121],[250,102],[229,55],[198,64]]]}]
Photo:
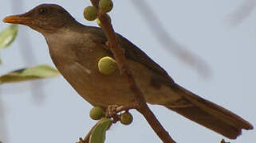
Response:
[{"label": "brown head of the bird including its orange beak", "polygon": [[61,6],[42,4],[25,14],[12,15],[3,19],[6,23],[30,26],[40,33],[54,33],[65,25],[74,23],[74,18]]}]

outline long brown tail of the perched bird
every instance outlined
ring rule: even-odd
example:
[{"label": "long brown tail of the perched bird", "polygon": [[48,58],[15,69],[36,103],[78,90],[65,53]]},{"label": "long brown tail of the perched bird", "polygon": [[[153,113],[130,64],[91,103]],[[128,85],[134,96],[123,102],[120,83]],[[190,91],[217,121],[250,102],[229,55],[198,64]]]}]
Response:
[{"label": "long brown tail of the perched bird", "polygon": [[222,106],[200,98],[198,95],[187,91],[177,84],[175,84],[174,89],[177,94],[183,95],[183,101],[179,101],[181,105],[164,106],[216,133],[220,133],[230,139],[235,139],[242,133],[242,129],[254,128],[249,122],[238,115],[224,109]]}]

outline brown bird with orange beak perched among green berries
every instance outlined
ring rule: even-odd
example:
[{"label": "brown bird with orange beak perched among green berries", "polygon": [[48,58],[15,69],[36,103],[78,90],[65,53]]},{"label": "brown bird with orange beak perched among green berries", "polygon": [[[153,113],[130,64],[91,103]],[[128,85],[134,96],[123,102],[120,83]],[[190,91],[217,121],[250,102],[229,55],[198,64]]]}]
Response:
[{"label": "brown bird with orange beak perched among green berries", "polygon": [[[43,4],[26,14],[6,17],[4,22],[28,25],[43,34],[57,69],[71,86],[93,106],[127,106],[134,102],[125,75],[99,72],[97,63],[113,54],[100,28],[81,25],[61,6]],[[117,34],[127,63],[148,103],[174,110],[190,120],[230,139],[253,126],[229,110],[207,101],[176,84],[135,44]]]}]

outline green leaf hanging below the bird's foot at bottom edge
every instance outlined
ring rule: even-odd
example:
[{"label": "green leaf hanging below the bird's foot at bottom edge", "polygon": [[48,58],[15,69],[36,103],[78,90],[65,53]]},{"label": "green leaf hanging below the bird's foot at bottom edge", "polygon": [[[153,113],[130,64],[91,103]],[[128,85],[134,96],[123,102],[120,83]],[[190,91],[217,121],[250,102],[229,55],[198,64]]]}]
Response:
[{"label": "green leaf hanging below the bird's foot at bottom edge", "polygon": [[110,118],[101,118],[100,122],[93,129],[93,133],[90,136],[89,143],[104,143],[106,130],[111,124]]}]

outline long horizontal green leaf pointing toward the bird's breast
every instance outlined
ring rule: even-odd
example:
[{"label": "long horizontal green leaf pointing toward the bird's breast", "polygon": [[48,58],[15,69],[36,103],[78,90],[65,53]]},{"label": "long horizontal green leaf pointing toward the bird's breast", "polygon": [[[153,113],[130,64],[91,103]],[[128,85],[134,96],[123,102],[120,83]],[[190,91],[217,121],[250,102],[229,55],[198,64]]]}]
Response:
[{"label": "long horizontal green leaf pointing toward the bird's breast", "polygon": [[0,76],[0,83],[14,83],[33,79],[43,79],[57,76],[59,74],[60,73],[56,69],[42,64],[37,67],[23,68],[14,72],[9,72],[6,75],[2,75]]}]

